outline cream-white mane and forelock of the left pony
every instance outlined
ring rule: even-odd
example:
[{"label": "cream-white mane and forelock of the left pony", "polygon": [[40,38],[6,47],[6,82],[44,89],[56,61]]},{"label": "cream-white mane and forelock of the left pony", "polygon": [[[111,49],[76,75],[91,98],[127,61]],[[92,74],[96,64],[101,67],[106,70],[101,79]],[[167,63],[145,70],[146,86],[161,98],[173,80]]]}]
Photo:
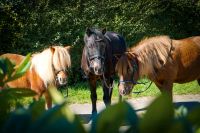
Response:
[{"label": "cream-white mane and forelock of the left pony", "polygon": [[65,70],[71,66],[70,55],[62,46],[53,46],[55,49],[52,53],[50,48],[45,49],[41,53],[32,55],[31,69],[42,78],[45,86],[55,84],[55,70]]}]

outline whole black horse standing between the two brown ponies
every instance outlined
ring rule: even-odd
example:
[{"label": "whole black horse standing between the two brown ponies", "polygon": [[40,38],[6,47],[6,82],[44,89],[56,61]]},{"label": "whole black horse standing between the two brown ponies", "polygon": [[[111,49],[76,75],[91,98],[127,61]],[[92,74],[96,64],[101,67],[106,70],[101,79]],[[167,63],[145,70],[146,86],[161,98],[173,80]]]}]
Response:
[{"label": "whole black horse standing between the two brown ponies", "polygon": [[84,36],[85,46],[82,53],[81,68],[88,77],[92,115],[96,109],[96,82],[101,79],[103,86],[103,101],[105,105],[111,104],[113,78],[117,58],[126,51],[124,38],[115,32],[87,28]]}]

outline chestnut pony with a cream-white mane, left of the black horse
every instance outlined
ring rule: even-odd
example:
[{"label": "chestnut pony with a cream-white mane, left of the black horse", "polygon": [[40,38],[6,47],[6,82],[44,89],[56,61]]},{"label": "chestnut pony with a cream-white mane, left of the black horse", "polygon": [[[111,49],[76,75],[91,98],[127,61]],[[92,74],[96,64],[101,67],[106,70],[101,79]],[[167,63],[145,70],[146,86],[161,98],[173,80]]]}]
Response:
[{"label": "chestnut pony with a cream-white mane, left of the black horse", "polygon": [[[25,75],[8,82],[6,86],[11,88],[30,88],[36,92],[36,96],[34,96],[36,100],[44,94],[47,108],[51,108],[52,100],[47,89],[66,84],[66,70],[71,66],[69,48],[69,46],[53,46],[41,53],[33,54],[31,66]],[[8,58],[16,65],[20,64],[25,58],[18,54],[3,54],[0,57]]]}]

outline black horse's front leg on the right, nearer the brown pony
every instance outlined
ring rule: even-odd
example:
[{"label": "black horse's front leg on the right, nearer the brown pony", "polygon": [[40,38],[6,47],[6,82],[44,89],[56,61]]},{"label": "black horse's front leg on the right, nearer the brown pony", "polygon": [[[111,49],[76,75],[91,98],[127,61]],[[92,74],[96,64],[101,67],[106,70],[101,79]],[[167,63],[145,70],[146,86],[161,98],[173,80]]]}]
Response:
[{"label": "black horse's front leg on the right, nearer the brown pony", "polygon": [[109,106],[111,104],[112,91],[113,79],[109,78],[109,80],[103,80],[103,101],[106,106]]}]

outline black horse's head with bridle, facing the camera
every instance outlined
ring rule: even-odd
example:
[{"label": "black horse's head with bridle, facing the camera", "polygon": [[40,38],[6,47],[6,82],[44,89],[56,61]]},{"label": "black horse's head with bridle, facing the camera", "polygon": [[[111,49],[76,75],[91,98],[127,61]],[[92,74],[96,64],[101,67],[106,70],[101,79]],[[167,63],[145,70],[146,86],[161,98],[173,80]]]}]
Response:
[{"label": "black horse's head with bridle, facing the camera", "polygon": [[108,43],[104,36],[105,33],[105,29],[100,31],[87,28],[84,36],[89,68],[95,75],[102,75],[104,71],[106,45]]}]

